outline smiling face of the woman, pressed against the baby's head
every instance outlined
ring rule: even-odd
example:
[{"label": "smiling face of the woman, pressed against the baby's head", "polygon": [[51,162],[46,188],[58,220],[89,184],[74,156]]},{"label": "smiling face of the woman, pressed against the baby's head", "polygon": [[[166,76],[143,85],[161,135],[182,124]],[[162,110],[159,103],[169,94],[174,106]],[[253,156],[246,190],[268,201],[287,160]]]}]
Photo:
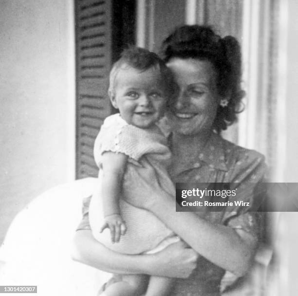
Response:
[{"label": "smiling face of the woman, pressed against the baby's head", "polygon": [[213,65],[208,60],[172,58],[167,66],[179,89],[167,114],[174,131],[183,135],[210,131],[220,101]]}]

